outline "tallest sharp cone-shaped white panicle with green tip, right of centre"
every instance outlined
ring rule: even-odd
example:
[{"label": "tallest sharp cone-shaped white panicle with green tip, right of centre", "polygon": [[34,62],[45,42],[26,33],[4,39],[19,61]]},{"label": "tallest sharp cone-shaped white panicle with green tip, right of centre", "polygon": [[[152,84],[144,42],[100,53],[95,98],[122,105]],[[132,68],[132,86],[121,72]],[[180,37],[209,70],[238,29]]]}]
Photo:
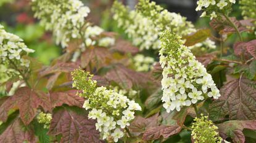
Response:
[{"label": "tallest sharp cone-shaped white panicle with green tip, right of centre", "polygon": [[204,66],[196,60],[180,37],[165,31],[161,36],[159,51],[163,68],[163,107],[180,111],[182,106],[190,106],[204,98],[220,96],[218,88]]}]

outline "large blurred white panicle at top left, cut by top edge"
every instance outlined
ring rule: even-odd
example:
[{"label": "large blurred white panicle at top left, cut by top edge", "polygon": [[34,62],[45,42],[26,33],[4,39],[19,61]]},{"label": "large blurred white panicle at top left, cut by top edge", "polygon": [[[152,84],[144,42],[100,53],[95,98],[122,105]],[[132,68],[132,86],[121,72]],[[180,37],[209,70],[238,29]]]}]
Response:
[{"label": "large blurred white panicle at top left, cut by top edge", "polygon": [[[41,25],[52,31],[56,44],[62,47],[67,47],[72,39],[83,39],[86,45],[82,44],[81,47],[94,45],[97,42],[93,40],[94,37],[104,31],[85,21],[90,9],[79,0],[32,0],[32,9]],[[104,45],[110,44],[112,41],[104,42]]]}]

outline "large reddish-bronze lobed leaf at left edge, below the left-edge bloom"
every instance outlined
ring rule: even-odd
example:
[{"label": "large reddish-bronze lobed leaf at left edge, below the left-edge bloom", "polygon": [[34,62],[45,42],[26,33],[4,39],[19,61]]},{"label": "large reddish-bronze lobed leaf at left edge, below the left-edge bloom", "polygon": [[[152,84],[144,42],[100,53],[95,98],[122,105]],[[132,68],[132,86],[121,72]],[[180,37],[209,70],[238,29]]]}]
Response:
[{"label": "large reddish-bronze lobed leaf at left edge, below the left-edge bloom", "polygon": [[19,88],[15,95],[4,99],[0,106],[0,120],[7,120],[10,109],[19,109],[20,118],[28,125],[36,115],[36,109],[42,107],[45,111],[51,110],[51,101],[42,91],[32,90],[28,87]]}]

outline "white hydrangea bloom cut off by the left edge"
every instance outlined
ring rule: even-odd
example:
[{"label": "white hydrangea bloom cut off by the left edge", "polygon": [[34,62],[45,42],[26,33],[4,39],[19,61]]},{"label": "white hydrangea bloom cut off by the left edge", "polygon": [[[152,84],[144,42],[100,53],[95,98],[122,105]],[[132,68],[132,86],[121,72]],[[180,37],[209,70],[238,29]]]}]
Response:
[{"label": "white hydrangea bloom cut off by the left edge", "polygon": [[[0,72],[12,77],[12,75],[19,75],[22,69],[28,69],[30,61],[23,55],[33,53],[34,50],[28,48],[19,36],[7,33],[3,28],[0,25]],[[2,78],[7,77],[1,77],[0,80]]]}]

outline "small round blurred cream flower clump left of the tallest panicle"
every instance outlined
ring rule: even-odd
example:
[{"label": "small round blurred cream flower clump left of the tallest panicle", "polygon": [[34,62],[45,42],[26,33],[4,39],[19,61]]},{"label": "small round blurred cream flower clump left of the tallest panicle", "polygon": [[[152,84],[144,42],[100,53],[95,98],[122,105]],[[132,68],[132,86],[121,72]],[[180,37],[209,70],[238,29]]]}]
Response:
[{"label": "small round blurred cream flower clump left of the tallest panicle", "polygon": [[155,60],[150,56],[137,54],[136,56],[133,57],[132,63],[136,71],[147,72],[153,69],[153,64],[155,63]]}]

